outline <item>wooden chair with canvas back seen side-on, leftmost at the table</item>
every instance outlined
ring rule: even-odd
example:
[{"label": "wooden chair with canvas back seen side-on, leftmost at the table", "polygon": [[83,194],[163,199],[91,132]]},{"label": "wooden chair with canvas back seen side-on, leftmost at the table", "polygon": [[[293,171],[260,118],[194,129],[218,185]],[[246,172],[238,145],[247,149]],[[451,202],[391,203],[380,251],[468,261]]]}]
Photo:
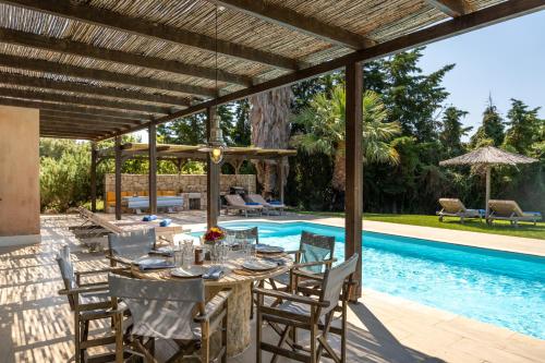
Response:
[{"label": "wooden chair with canvas back seen side-on, leftmost at the table", "polygon": [[[66,295],[70,310],[74,314],[75,362],[108,362],[114,354],[96,354],[88,356],[87,349],[107,346],[116,341],[113,331],[99,338],[89,339],[89,322],[112,319],[111,299],[108,292],[108,281],[96,281],[96,275],[120,271],[119,268],[105,268],[93,271],[74,271],[70,247],[63,246],[57,256],[57,263],[62,276],[64,289],[59,294]],[[82,282],[83,278],[95,277],[95,282]],[[110,325],[110,324],[109,324]]]}]

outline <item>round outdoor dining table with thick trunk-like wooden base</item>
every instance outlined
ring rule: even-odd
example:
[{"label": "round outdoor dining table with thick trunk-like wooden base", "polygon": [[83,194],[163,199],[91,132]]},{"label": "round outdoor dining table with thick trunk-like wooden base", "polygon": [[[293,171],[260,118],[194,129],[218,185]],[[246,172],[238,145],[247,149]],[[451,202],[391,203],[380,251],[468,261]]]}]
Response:
[{"label": "round outdoor dining table with thick trunk-like wooden base", "polygon": [[[281,258],[284,265],[264,271],[251,271],[242,268],[244,256],[242,252],[231,251],[226,263],[222,264],[223,276],[218,280],[205,280],[206,298],[211,299],[218,291],[230,288],[232,290],[228,300],[228,325],[227,325],[227,355],[234,356],[250,347],[251,326],[250,308],[252,302],[252,285],[270,277],[286,274],[293,265],[293,261],[287,254],[267,255],[268,257]],[[261,256],[257,255],[257,258]],[[210,265],[206,261],[205,266]],[[138,266],[131,268],[133,277],[142,279],[171,279],[182,280],[184,278],[173,277],[169,269],[141,270]]]}]

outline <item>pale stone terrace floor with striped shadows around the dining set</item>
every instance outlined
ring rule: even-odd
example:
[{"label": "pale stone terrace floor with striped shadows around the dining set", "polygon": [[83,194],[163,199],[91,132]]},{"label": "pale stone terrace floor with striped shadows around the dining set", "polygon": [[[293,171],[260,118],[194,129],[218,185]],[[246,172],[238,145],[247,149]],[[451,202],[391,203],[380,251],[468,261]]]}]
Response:
[{"label": "pale stone terrace floor with striped shadows around the dining set", "polygon": [[[203,216],[171,216],[183,225]],[[62,243],[74,253],[76,269],[99,267],[69,232],[75,216],[43,217],[43,243],[0,250],[0,362],[66,362],[73,355],[73,323],[61,288],[55,254]],[[544,341],[467,319],[402,299],[365,290],[350,308],[349,362],[540,362]],[[108,328],[94,326],[96,331]],[[269,331],[270,334],[270,331]],[[270,341],[270,340],[269,340]],[[171,347],[162,343],[165,360]],[[230,362],[254,362],[254,347]],[[279,360],[280,362],[287,362]]]}]

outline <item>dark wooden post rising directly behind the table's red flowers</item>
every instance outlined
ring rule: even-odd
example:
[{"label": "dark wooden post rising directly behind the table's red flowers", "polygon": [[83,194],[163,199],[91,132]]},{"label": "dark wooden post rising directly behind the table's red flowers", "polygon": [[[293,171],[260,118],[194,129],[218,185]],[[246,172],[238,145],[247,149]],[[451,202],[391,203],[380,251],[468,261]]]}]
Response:
[{"label": "dark wooden post rising directly behind the table's red flowers", "polygon": [[[206,109],[206,137],[210,138],[210,131],[216,122],[216,107]],[[218,125],[219,126],[219,125]],[[218,226],[219,216],[219,173],[220,166],[214,164],[210,155],[207,156],[206,172],[206,221],[208,228]]]}]

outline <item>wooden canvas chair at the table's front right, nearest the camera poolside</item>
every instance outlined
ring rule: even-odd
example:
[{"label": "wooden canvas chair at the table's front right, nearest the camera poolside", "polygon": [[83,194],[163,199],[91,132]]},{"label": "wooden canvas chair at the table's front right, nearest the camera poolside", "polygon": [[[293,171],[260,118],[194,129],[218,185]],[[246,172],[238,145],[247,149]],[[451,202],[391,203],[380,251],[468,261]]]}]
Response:
[{"label": "wooden canvas chair at the table's front right, nearest the camera poolside", "polygon": [[[359,255],[354,254],[344,263],[332,267],[323,276],[295,270],[294,274],[304,275],[320,282],[319,297],[314,299],[298,293],[289,293],[278,290],[255,288],[257,297],[256,317],[256,362],[262,362],[262,351],[272,353],[271,362],[277,355],[290,358],[300,362],[317,363],[322,355],[334,360],[336,363],[344,363],[347,360],[347,303],[351,289],[355,285],[353,275],[356,269]],[[282,303],[277,306],[264,304],[264,298],[271,297],[280,299]],[[331,327],[335,314],[341,319],[341,327]],[[279,335],[278,343],[270,344],[262,341],[263,323],[268,323]],[[282,328],[283,327],[283,328]],[[310,331],[310,348],[298,344],[290,332],[300,328]],[[329,334],[340,335],[340,355],[328,342]],[[282,346],[287,344],[287,348]]]}]

